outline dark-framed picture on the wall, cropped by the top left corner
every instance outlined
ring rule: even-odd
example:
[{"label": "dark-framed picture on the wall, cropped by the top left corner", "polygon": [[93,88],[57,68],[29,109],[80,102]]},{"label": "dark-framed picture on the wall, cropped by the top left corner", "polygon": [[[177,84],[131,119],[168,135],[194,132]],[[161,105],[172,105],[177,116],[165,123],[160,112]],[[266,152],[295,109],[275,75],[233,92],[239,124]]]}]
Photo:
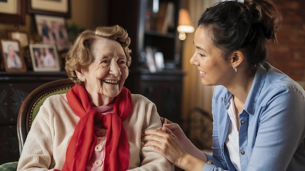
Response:
[{"label": "dark-framed picture on the wall, cropped by the top left corner", "polygon": [[0,23],[25,24],[25,0],[0,0]]}]

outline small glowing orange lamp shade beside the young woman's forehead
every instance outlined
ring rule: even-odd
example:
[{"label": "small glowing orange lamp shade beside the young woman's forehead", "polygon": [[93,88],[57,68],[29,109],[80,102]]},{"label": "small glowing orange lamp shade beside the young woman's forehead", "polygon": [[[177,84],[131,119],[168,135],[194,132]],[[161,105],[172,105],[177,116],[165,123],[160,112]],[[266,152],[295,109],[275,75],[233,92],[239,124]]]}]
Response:
[{"label": "small glowing orange lamp shade beside the young woman's forehead", "polygon": [[179,11],[179,21],[177,31],[179,33],[193,33],[195,31],[188,10],[181,8]]}]

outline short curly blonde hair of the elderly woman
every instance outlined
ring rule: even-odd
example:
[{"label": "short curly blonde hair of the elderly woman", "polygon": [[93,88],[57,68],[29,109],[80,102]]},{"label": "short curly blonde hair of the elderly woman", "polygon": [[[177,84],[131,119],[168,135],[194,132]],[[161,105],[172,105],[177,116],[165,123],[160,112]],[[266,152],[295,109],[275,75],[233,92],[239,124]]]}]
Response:
[{"label": "short curly blonde hair of the elderly woman", "polygon": [[131,41],[127,31],[124,28],[119,25],[114,25],[100,26],[92,30],[87,29],[76,37],[76,40],[66,55],[65,70],[69,79],[75,84],[83,85],[83,82],[80,81],[76,76],[76,70],[79,67],[86,68],[93,61],[93,55],[90,48],[92,43],[98,37],[119,42],[126,55],[127,67],[131,65],[131,49],[129,49]]}]

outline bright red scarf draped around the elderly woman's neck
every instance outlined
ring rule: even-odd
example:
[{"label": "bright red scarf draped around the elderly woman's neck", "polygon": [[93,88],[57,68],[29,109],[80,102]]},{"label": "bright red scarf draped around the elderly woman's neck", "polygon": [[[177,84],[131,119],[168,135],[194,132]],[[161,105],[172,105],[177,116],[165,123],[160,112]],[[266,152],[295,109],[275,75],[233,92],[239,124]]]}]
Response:
[{"label": "bright red scarf draped around the elderly woman's neck", "polygon": [[[123,126],[131,111],[132,97],[130,91],[123,87],[114,100],[113,113],[102,115],[89,102],[86,89],[74,85],[66,94],[69,105],[80,117],[66,152],[62,171],[85,171],[87,162],[92,157],[97,138],[94,125],[103,123],[107,129],[104,171],[126,171],[129,169],[129,146],[126,130]],[[58,170],[57,170],[58,171]]]}]

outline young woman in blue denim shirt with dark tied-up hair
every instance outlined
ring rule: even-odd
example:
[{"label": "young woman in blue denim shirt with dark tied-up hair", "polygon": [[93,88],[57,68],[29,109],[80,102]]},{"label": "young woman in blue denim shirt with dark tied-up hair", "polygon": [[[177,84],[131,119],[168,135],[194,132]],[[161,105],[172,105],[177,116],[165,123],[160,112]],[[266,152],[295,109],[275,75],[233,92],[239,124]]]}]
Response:
[{"label": "young woman in blue denim shirt with dark tied-up hair", "polygon": [[199,19],[190,62],[203,85],[218,85],[212,98],[213,155],[196,149],[175,123],[146,131],[145,146],[186,171],[305,171],[305,91],[265,62],[280,20],[267,0],[208,8]]}]

